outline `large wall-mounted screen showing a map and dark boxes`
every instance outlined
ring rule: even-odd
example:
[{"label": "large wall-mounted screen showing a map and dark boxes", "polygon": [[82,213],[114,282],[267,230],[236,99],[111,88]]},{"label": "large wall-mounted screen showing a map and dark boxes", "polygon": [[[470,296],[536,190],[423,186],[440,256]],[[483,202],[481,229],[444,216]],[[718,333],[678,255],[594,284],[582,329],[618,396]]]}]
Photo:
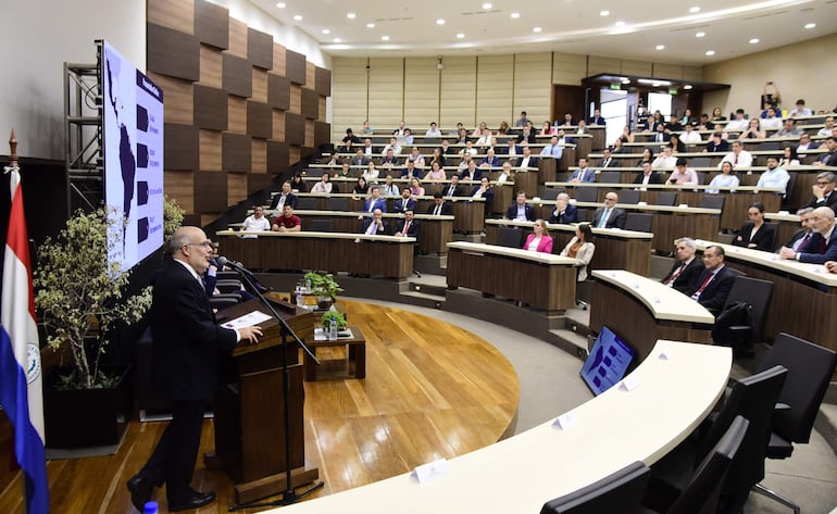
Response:
[{"label": "large wall-mounted screen showing a map and dark boxes", "polygon": [[107,41],[103,54],[109,258],[125,271],[163,243],[163,91]]}]

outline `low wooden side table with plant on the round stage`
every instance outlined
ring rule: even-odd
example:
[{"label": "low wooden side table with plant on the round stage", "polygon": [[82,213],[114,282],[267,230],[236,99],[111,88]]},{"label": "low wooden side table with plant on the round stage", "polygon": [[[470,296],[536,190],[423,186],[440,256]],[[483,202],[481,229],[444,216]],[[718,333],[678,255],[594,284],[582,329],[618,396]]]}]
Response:
[{"label": "low wooden side table with plant on the round stage", "polygon": [[366,377],[366,339],[358,327],[349,327],[349,331],[351,337],[338,337],[334,341],[317,341],[314,340],[313,335],[305,338],[305,344],[314,354],[316,354],[317,348],[343,346],[347,353],[346,359],[321,360],[320,365],[305,353],[305,381]]}]

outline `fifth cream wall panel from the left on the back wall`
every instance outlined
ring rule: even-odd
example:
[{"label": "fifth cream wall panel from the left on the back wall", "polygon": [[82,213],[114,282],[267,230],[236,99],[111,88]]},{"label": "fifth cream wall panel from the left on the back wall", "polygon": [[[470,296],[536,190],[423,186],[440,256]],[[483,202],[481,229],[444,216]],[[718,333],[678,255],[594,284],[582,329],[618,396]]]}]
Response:
[{"label": "fifth cream wall panel from the left on the back wall", "polygon": [[[514,125],[516,117],[509,117],[509,113],[514,110],[512,97],[514,77],[526,77],[521,73],[512,73],[514,60],[515,55],[479,55],[477,58],[477,123],[486,122],[494,128],[503,121]],[[549,65],[547,65],[547,73],[549,73]]]}]

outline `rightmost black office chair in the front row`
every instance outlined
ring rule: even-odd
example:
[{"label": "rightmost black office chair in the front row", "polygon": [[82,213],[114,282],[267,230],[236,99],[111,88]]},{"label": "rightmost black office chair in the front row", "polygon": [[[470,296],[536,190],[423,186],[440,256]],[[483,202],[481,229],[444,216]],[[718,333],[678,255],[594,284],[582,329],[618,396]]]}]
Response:
[{"label": "rightmost black office chair in the front row", "polygon": [[[776,336],[759,369],[777,364],[788,368],[788,376],[771,421],[767,459],[788,459],[794,453],[795,442],[807,443],[811,438],[820,404],[837,366],[837,353],[783,333]],[[776,500],[797,514],[800,512],[799,505],[790,499],[761,484],[757,484],[753,491]]]}]

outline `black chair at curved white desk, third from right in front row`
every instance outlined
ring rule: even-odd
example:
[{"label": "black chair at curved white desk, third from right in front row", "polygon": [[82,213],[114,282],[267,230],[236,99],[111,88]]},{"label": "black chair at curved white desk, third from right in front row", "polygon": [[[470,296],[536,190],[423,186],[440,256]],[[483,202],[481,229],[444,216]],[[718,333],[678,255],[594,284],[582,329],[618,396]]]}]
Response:
[{"label": "black chair at curved white desk, third from right in front row", "polygon": [[[717,509],[721,486],[729,466],[747,435],[750,422],[736,416],[724,437],[703,459],[682,493],[670,500],[660,496],[647,496],[642,501],[645,513],[711,514]],[[649,509],[651,507],[651,509]]]}]

